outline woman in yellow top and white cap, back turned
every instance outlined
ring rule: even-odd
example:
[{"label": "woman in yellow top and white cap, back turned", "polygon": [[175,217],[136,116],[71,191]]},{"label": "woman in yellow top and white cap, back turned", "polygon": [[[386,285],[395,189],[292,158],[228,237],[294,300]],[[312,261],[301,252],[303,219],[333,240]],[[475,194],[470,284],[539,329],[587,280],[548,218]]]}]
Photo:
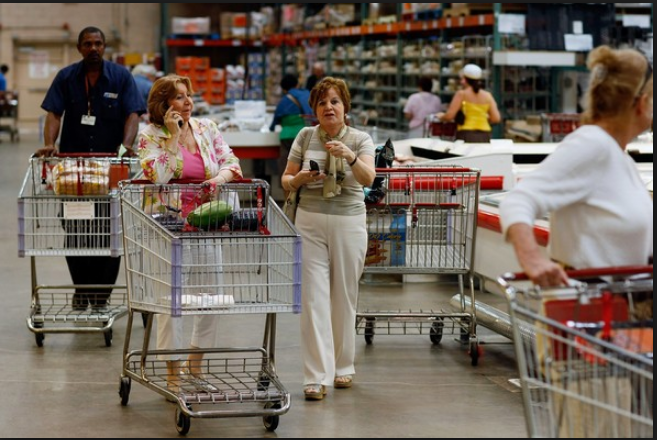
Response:
[{"label": "woman in yellow top and white cap, back turned", "polygon": [[[456,139],[464,142],[486,143],[491,139],[491,124],[500,122],[500,112],[495,98],[483,89],[482,71],[475,64],[467,64],[461,72],[462,90],[456,92],[445,113],[438,113],[441,121],[455,121]],[[464,121],[457,113],[463,111]]]}]

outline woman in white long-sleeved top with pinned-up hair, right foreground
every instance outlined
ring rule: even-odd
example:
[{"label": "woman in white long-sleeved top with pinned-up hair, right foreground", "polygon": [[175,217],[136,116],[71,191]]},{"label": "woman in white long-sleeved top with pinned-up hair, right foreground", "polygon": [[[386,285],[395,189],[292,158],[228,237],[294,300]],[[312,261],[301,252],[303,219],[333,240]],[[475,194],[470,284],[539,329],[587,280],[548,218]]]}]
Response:
[{"label": "woman in white long-sleeved top with pinned-up hair, right foreground", "polygon": [[[627,144],[650,129],[652,66],[638,51],[600,46],[589,53],[584,125],[523,177],[500,206],[506,239],[540,286],[567,283],[577,269],[645,265],[653,253],[653,204]],[[550,214],[549,254],[533,234]]]}]

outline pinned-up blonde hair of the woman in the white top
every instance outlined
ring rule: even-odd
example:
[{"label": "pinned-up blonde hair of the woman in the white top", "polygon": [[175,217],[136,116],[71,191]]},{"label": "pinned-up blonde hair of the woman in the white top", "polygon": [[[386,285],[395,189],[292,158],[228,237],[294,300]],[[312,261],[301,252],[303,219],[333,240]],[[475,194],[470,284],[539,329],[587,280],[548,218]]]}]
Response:
[{"label": "pinned-up blonde hair of the woman in the white top", "polygon": [[594,123],[632,108],[642,94],[652,97],[652,68],[635,49],[593,49],[586,66],[591,72],[582,122]]}]

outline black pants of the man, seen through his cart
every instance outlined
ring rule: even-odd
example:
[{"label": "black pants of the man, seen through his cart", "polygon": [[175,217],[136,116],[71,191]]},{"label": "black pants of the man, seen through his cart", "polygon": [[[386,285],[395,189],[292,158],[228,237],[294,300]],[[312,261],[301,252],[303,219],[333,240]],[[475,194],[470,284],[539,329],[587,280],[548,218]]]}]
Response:
[{"label": "black pants of the man, seen through his cart", "polygon": [[[105,202],[94,204],[93,220],[62,220],[67,233],[68,249],[96,250],[110,246],[110,205]],[[121,257],[67,256],[66,264],[75,285],[114,285],[121,268]],[[76,287],[72,306],[84,310],[87,305],[104,306],[112,288],[85,289]]]}]

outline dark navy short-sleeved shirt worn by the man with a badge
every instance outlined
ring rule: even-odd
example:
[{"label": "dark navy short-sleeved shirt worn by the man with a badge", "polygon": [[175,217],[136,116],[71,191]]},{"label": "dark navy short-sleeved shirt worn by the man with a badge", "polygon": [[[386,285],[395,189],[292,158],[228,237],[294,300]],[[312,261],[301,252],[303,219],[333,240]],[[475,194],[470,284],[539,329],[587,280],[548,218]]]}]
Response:
[{"label": "dark navy short-sleeved shirt worn by the man with a badge", "polygon": [[[131,113],[142,115],[146,103],[132,74],[123,66],[103,61],[102,74],[87,93],[82,61],[57,73],[41,108],[64,115],[59,151],[62,153],[115,153],[123,142],[123,128]],[[95,125],[82,124],[90,110]]]}]

